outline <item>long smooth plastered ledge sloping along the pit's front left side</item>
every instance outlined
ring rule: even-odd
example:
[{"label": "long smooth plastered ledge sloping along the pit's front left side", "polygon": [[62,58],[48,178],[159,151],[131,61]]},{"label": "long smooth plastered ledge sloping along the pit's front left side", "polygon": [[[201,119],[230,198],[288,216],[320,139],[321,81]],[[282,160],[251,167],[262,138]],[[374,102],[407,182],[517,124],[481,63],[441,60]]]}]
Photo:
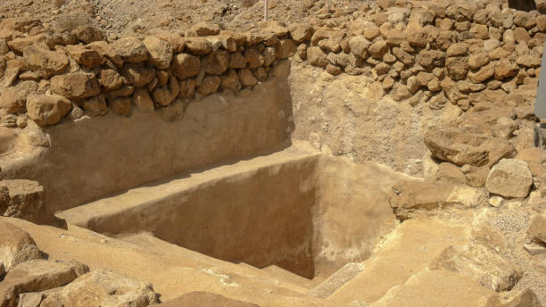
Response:
[{"label": "long smooth plastered ledge sloping along the pit's front left side", "polygon": [[[337,302],[305,296],[294,291],[294,286],[273,285],[261,278],[246,277],[242,267],[234,263],[222,261],[225,267],[211,266],[175,253],[165,253],[169,248],[161,247],[154,251],[73,225],[63,230],[38,226],[25,220],[4,217],[0,217],[0,220],[9,221],[27,231],[40,249],[49,255],[49,259],[75,260],[86,263],[91,270],[114,270],[149,282],[153,290],[161,295],[162,302],[186,293],[206,291],[256,303],[261,307],[340,306]],[[173,247],[181,250],[176,245]]]}]

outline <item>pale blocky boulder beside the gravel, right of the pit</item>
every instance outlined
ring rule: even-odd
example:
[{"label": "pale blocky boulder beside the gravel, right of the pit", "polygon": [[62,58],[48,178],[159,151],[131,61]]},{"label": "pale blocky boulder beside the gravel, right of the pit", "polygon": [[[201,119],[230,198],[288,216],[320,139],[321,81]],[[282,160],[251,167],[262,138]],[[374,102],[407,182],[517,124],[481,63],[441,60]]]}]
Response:
[{"label": "pale blocky boulder beside the gravel, right of the pit", "polygon": [[492,194],[505,197],[526,197],[533,184],[533,175],[526,162],[502,159],[487,176],[485,188]]}]

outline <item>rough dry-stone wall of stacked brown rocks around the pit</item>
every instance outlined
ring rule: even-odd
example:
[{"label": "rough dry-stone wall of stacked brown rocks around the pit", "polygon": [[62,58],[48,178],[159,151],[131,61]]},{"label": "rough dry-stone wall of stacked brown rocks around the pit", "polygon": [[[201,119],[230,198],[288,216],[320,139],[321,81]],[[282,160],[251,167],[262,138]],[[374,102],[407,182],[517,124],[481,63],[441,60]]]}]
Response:
[{"label": "rough dry-stone wall of stacked brown rocks around the pit", "polygon": [[52,125],[133,109],[153,112],[216,92],[246,93],[280,59],[364,74],[396,101],[448,101],[467,111],[473,94],[535,87],[546,16],[501,3],[385,0],[318,26],[261,22],[252,32],[200,23],[177,33],[122,37],[110,43],[90,27],[43,29],[31,18],[0,24],[0,116]]}]

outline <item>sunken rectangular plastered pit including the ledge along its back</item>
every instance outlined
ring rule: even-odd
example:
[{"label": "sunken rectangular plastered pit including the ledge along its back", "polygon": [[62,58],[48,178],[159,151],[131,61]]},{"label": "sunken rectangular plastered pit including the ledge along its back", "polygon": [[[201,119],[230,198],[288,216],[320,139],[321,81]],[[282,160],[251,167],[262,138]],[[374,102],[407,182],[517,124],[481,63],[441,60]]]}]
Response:
[{"label": "sunken rectangular plastered pit including the ledge along its back", "polygon": [[150,232],[223,261],[322,278],[368,258],[376,239],[392,227],[386,189],[394,178],[375,164],[333,161],[293,146],[57,216],[109,236]]}]

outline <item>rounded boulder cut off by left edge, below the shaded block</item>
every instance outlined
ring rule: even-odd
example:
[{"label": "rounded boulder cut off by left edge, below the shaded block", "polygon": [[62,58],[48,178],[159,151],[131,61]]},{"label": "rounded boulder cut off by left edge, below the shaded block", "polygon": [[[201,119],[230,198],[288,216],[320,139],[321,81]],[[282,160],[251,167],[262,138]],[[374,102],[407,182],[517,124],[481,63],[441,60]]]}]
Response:
[{"label": "rounded boulder cut off by left edge, below the shaded block", "polygon": [[[22,262],[40,259],[41,256],[36,242],[28,233],[4,220],[0,220],[0,264],[4,264],[6,272]],[[0,276],[1,278],[2,276]]]}]

